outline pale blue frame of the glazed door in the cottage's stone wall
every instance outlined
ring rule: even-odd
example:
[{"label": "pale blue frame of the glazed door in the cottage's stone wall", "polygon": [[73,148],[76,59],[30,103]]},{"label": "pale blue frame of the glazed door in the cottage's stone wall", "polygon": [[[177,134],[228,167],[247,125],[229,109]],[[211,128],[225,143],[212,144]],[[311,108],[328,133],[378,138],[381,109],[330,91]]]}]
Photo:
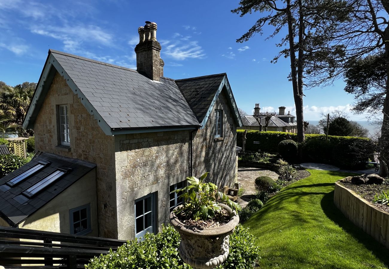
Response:
[{"label": "pale blue frame of the glazed door in the cottage's stone wall", "polygon": [[[151,210],[145,212],[145,203],[144,203],[144,201],[146,199],[148,199],[149,197],[151,198]],[[156,219],[157,219],[158,215],[157,215],[157,211],[156,211],[156,209],[157,209],[156,202],[158,200],[156,199],[156,197],[157,197],[157,192],[152,192],[152,193],[147,194],[147,195],[145,195],[143,197],[140,197],[140,198],[138,198],[138,199],[136,199],[134,201],[135,237],[137,239],[142,238],[142,240],[143,240],[143,238],[144,238],[144,236],[145,236],[145,234],[147,232],[150,232],[150,233],[153,233],[153,234],[155,234],[157,232],[156,231],[157,230],[156,229],[157,228]],[[143,214],[137,216],[137,203],[139,201],[143,201],[143,209],[142,209]],[[151,226],[145,227],[145,215],[147,215],[148,213],[151,213]],[[140,232],[137,232],[137,219],[140,218],[140,217],[143,217],[143,230],[141,230]]]}]

